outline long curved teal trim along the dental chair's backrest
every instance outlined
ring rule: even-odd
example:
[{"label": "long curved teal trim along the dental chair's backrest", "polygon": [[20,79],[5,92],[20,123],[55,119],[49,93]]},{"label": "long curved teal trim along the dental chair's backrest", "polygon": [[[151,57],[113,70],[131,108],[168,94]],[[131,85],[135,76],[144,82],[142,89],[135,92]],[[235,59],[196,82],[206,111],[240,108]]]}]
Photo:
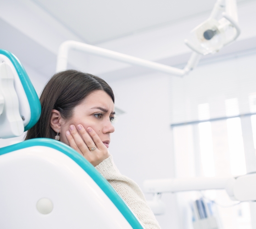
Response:
[{"label": "long curved teal trim along the dental chair's backrest", "polygon": [[0,155],[33,146],[45,146],[54,148],[70,157],[87,174],[89,174],[89,176],[95,181],[97,185],[99,185],[101,190],[105,192],[106,196],[108,196],[108,198],[114,203],[114,205],[122,213],[124,218],[126,218],[126,220],[132,226],[133,229],[143,229],[138,219],[134,216],[131,210],[123,202],[122,198],[108,183],[108,181],[94,168],[92,164],[89,163],[89,161],[87,161],[79,153],[77,153],[75,150],[73,150],[66,144],[50,138],[35,138],[21,143],[17,143],[15,145],[0,148]]}]

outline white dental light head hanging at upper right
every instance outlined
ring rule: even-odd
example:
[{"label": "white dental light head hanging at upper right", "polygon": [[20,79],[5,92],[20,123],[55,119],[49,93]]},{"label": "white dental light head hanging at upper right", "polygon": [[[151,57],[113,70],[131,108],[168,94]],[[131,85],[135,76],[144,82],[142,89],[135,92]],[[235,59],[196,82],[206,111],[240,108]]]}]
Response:
[{"label": "white dental light head hanging at upper right", "polygon": [[235,0],[218,0],[210,17],[191,31],[185,44],[201,55],[214,54],[240,34]]}]

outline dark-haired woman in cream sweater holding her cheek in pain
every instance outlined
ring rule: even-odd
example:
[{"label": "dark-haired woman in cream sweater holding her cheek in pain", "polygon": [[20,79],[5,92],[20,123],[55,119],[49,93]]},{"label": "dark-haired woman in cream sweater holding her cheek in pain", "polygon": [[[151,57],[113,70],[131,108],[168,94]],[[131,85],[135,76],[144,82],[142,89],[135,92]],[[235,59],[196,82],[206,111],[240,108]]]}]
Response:
[{"label": "dark-haired woman in cream sweater holding her cheek in pain", "polygon": [[111,87],[97,76],[62,71],[46,84],[40,102],[41,117],[25,140],[47,137],[66,143],[109,181],[145,229],[159,229],[139,186],[120,174],[108,152],[115,131],[111,124],[115,118]]}]

